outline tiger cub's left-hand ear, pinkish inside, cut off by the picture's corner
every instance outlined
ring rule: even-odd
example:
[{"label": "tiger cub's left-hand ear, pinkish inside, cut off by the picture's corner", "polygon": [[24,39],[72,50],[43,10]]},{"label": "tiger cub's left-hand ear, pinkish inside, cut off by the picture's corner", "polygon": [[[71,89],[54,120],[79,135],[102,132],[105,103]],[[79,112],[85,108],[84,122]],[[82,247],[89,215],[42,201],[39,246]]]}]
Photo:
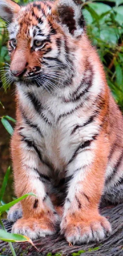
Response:
[{"label": "tiger cub's left-hand ear, pinkish inside, cut off by the picture's corner", "polygon": [[12,21],[14,15],[18,13],[20,6],[11,0],[0,0],[0,17],[5,21]]}]

